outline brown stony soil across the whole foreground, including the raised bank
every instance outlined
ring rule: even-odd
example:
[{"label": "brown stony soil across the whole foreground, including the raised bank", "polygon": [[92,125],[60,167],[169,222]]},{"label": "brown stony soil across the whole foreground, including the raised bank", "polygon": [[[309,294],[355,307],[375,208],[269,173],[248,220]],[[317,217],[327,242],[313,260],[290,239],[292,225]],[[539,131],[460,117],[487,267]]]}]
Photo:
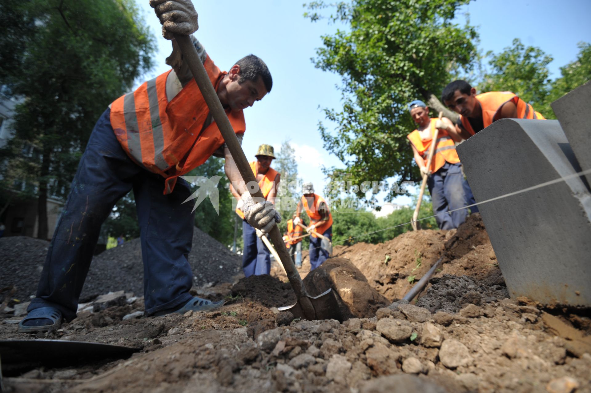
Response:
[{"label": "brown stony soil across the whole foreground, including the raised bank", "polygon": [[[571,326],[561,328],[572,314],[548,319],[531,301],[506,298],[482,223],[471,216],[465,227],[405,233],[382,245],[337,247],[336,254],[350,262],[329,259],[306,281],[318,290],[330,281],[348,307],[371,316],[350,316],[342,323],[285,318],[275,307],[295,298],[289,284],[269,276],[243,278],[234,285],[203,280],[206,284],[194,287],[196,293],[226,300],[206,313],[127,319],[143,311],[142,298],[131,297],[125,306],[96,313],[89,311],[92,304],[85,305],[86,311],[70,323],[36,335],[17,333],[14,321],[20,317],[8,315],[0,324],[0,339],[81,340],[139,352],[127,360],[59,368],[9,365],[5,389],[591,392],[589,336]],[[397,301],[378,308],[402,297],[411,287],[408,276],[418,280],[444,250],[446,263],[416,303],[423,307]],[[115,249],[114,260],[116,251],[125,250]],[[345,288],[355,288],[356,296],[347,297]],[[389,300],[379,301],[382,295]],[[588,326],[588,316],[577,318],[578,326]]]}]

